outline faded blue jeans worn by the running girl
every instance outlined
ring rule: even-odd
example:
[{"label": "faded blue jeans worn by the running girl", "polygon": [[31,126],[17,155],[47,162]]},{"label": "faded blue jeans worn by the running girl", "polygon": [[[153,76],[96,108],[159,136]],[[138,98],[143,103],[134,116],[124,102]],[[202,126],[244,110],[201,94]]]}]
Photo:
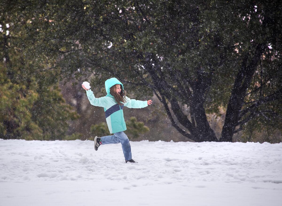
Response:
[{"label": "faded blue jeans worn by the running girl", "polygon": [[129,139],[123,131],[122,132],[116,132],[116,133],[114,133],[114,135],[102,136],[101,142],[102,142],[102,144],[121,143],[122,144],[122,151],[124,153],[125,160],[131,160],[132,159]]}]

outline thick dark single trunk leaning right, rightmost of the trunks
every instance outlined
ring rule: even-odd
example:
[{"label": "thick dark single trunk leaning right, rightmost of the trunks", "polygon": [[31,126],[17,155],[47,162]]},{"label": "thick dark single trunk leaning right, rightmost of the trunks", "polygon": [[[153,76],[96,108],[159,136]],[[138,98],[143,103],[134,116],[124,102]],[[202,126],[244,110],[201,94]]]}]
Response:
[{"label": "thick dark single trunk leaning right, rightmost of the trunks", "polygon": [[265,44],[258,44],[250,64],[248,62],[248,54],[242,61],[242,66],[238,72],[235,82],[233,84],[232,93],[228,102],[226,117],[224,120],[224,126],[221,133],[221,142],[232,142],[232,137],[234,135],[235,127],[240,120],[240,112],[244,103],[244,98],[246,96],[246,91],[250,86],[252,76],[257,68],[259,59],[265,50]]}]

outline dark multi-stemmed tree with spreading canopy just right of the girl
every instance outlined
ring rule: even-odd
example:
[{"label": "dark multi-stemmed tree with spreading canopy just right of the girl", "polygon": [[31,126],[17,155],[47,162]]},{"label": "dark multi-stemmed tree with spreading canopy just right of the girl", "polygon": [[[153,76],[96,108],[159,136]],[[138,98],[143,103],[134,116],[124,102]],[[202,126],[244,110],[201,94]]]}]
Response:
[{"label": "dark multi-stemmed tree with spreading canopy just right of the girl", "polygon": [[[211,84],[209,71],[214,70],[213,65],[208,67],[210,62],[203,57],[198,57],[198,61],[186,61],[188,57],[197,57],[195,50],[201,44],[198,38],[201,30],[195,25],[202,17],[198,18],[198,16],[206,14],[201,14],[196,4],[191,7],[188,3],[184,5],[173,5],[173,3],[165,5],[163,3],[153,5],[154,8],[150,2],[145,3],[146,6],[140,5],[137,2],[133,5],[119,5],[120,7],[110,5],[113,7],[109,10],[100,11],[99,20],[94,18],[97,16],[96,10],[89,9],[88,16],[93,17],[92,25],[94,26],[85,29],[84,32],[102,33],[100,37],[103,38],[102,42],[109,42],[109,44],[113,42],[113,45],[107,48],[102,44],[101,48],[96,44],[94,46],[93,40],[85,43],[83,52],[77,53],[79,58],[85,62],[80,71],[96,67],[95,72],[101,74],[99,76],[101,81],[104,80],[106,73],[110,73],[120,79],[126,77],[124,82],[132,83],[139,88],[149,86],[164,104],[173,126],[180,133],[195,141],[216,141],[204,109],[204,96],[207,93],[206,89],[209,89]],[[92,6],[89,8],[94,7]],[[175,11],[174,6],[179,6],[179,8]],[[146,11],[142,11],[141,7],[146,8]],[[151,10],[158,11],[152,13],[153,16],[150,17],[152,21],[147,19],[147,16],[151,15]],[[186,10],[185,15],[181,14],[184,10]],[[168,11],[166,14],[168,18],[164,18],[161,11]],[[190,24],[185,24],[186,16],[192,19]],[[116,27],[109,29],[113,23],[117,24]],[[80,22],[81,24],[83,22]],[[183,35],[183,31],[187,33]],[[86,39],[83,38],[79,40],[81,44],[85,41]],[[217,47],[214,42],[211,44],[213,46],[211,50]],[[208,48],[204,44],[199,47],[199,51],[206,56],[210,51],[206,51],[204,47]],[[69,61],[68,56],[65,56],[65,61]],[[199,64],[199,61],[203,62]],[[60,63],[62,66],[65,65],[63,61]],[[79,64],[76,67],[78,66]],[[96,83],[101,83],[101,81],[98,78],[95,79]],[[172,118],[169,104],[178,122]],[[191,121],[188,115],[181,110],[181,104],[190,105]],[[181,127],[187,129],[188,132]]]}]

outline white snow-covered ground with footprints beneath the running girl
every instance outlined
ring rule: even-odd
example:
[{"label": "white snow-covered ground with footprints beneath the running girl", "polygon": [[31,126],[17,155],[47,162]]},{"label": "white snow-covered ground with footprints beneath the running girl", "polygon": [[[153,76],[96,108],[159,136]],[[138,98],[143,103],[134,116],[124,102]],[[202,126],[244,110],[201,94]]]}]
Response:
[{"label": "white snow-covered ground with footprints beneath the running girl", "polygon": [[0,205],[281,205],[282,143],[0,139]]}]

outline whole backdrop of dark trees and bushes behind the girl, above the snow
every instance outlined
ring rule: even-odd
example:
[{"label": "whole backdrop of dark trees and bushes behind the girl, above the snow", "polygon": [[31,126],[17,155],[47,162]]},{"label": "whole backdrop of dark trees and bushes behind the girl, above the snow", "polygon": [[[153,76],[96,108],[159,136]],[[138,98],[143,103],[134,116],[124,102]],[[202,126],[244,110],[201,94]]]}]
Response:
[{"label": "whole backdrop of dark trees and bushes behind the girl, above the snow", "polygon": [[116,77],[132,141],[282,141],[279,1],[1,1],[0,138],[109,135]]}]

